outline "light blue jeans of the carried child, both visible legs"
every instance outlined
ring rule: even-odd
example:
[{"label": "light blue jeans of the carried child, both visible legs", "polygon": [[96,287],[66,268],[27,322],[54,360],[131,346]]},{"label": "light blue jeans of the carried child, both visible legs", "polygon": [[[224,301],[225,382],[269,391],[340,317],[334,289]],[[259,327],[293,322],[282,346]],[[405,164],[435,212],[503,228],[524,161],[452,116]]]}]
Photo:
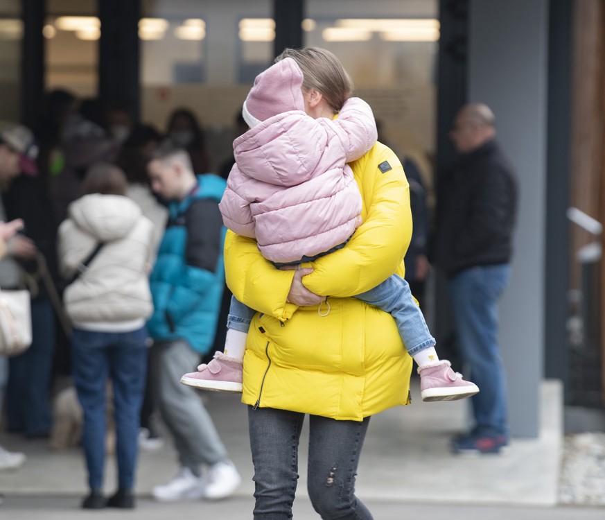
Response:
[{"label": "light blue jeans of the carried child, both visible legs", "polygon": [[[435,346],[435,338],[430,335],[422,311],[412,299],[410,285],[402,277],[391,275],[382,284],[354,297],[393,316],[399,336],[410,356]],[[227,328],[247,332],[255,313],[236,297],[231,297]]]}]

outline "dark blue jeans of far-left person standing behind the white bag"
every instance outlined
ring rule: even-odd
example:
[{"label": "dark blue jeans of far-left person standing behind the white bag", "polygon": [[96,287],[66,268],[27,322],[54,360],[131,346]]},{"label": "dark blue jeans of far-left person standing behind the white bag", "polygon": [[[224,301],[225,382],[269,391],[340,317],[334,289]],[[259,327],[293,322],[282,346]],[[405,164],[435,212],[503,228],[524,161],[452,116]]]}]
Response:
[{"label": "dark blue jeans of far-left person standing behind the white bag", "polygon": [[43,437],[52,426],[50,391],[55,353],[55,317],[50,300],[31,302],[32,343],[8,360],[8,431]]}]

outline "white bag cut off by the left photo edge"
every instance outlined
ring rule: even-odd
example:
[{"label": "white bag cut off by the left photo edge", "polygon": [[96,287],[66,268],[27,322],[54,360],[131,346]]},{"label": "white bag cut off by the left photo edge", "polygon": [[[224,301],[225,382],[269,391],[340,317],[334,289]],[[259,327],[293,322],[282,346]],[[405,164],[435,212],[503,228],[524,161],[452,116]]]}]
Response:
[{"label": "white bag cut off by the left photo edge", "polygon": [[0,356],[17,356],[30,345],[29,291],[0,291]]}]

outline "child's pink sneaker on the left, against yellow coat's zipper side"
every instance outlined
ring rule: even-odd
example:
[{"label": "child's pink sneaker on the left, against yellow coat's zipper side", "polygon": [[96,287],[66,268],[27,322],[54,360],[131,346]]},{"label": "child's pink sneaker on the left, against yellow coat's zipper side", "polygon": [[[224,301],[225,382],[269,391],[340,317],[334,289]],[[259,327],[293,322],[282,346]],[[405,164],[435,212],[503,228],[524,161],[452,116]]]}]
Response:
[{"label": "child's pink sneaker on the left, against yellow coat's zipper side", "polygon": [[198,367],[198,372],[182,376],[181,383],[202,390],[213,390],[213,392],[241,393],[242,371],[241,361],[225,356],[222,352],[216,352],[210,363],[207,365],[202,363]]}]

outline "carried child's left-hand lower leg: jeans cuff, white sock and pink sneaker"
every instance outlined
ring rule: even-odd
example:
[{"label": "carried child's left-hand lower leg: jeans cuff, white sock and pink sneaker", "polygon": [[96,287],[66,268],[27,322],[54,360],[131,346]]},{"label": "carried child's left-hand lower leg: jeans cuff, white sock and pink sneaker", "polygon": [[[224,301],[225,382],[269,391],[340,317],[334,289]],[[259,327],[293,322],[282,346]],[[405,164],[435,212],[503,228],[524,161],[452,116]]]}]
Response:
[{"label": "carried child's left-hand lower leg: jeans cuff, white sock and pink sneaker", "polygon": [[215,392],[241,392],[246,338],[255,312],[232,296],[225,352],[216,352],[210,363],[198,367],[198,372],[182,376],[181,383]]}]

